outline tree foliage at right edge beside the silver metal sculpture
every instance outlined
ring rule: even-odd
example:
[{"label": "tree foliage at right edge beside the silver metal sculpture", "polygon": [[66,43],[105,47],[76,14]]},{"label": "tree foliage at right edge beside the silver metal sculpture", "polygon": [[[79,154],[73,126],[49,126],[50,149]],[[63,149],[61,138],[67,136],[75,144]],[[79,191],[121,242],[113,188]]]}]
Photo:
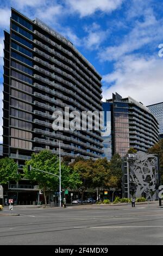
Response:
[{"label": "tree foliage at right edge beside the silver metal sculpture", "polygon": [[163,184],[163,139],[155,143],[152,148],[148,149],[148,153],[157,154],[160,160],[161,184]]}]

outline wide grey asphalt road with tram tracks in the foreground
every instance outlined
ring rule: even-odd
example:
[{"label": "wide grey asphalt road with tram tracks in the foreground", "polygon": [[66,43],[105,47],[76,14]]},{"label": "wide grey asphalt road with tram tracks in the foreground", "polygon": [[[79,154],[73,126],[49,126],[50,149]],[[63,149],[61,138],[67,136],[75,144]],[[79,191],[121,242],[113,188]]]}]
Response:
[{"label": "wide grey asphalt road with tram tracks in the foreground", "polygon": [[80,205],[66,209],[8,206],[0,212],[0,245],[162,245],[163,208],[158,203]]}]

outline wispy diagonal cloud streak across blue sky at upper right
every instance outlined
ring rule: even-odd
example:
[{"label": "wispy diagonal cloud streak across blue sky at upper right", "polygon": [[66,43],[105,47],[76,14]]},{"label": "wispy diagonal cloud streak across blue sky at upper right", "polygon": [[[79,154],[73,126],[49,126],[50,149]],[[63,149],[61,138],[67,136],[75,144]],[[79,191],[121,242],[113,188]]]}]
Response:
[{"label": "wispy diagonal cloud streak across blue sky at upper right", "polygon": [[156,20],[153,10],[147,8],[143,11],[143,21],[135,21],[131,31],[119,41],[118,45],[105,47],[99,52],[101,62],[105,60],[118,60],[124,55],[147,45],[154,45],[155,48],[163,40],[162,20]]}]

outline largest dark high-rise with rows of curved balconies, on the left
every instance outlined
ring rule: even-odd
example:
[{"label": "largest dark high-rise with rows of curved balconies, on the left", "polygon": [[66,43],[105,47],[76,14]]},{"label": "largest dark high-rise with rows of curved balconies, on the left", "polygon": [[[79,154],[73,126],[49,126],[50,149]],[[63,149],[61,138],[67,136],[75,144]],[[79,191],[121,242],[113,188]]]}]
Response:
[{"label": "largest dark high-rise with rows of curved balconies, on the left", "polygon": [[[3,156],[15,159],[20,172],[32,153],[58,155],[59,141],[62,157],[101,157],[99,131],[52,129],[56,110],[102,111],[101,78],[64,36],[11,8],[10,32],[4,31]],[[20,182],[9,188],[26,188]]]}]

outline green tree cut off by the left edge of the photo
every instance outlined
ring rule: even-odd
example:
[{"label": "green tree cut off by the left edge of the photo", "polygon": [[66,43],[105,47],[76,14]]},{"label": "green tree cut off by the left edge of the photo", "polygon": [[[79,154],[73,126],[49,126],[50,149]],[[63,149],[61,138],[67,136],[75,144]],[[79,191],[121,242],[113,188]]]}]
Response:
[{"label": "green tree cut off by the left edge of the photo", "polygon": [[8,157],[0,159],[0,184],[7,184],[9,181],[20,179],[17,168],[17,164],[13,159]]}]

